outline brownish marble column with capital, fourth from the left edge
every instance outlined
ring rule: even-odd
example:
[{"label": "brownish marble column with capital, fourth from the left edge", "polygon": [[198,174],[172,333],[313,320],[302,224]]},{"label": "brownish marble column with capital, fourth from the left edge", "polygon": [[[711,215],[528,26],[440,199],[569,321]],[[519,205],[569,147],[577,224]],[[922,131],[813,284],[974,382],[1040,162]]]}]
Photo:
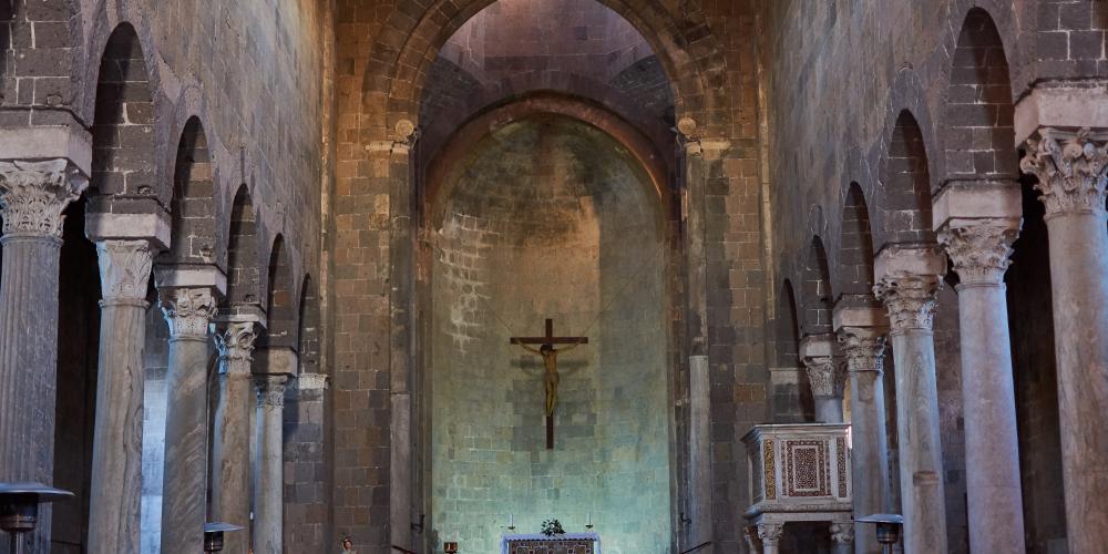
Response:
[{"label": "brownish marble column with capital, fourth from the left edge", "polygon": [[[250,362],[257,324],[232,321],[216,334],[219,350],[219,396],[212,440],[212,520],[250,526]],[[247,554],[249,533],[229,533],[228,554]]]}]

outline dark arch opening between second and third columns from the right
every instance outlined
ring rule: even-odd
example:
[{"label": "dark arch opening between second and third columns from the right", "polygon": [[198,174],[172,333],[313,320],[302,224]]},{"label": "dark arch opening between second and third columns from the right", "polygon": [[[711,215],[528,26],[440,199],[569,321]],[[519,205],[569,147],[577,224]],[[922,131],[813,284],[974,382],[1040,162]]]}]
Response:
[{"label": "dark arch opening between second and third columns from the right", "polygon": [[896,116],[881,173],[885,240],[934,243],[927,152],[920,124],[909,110],[901,110]]}]

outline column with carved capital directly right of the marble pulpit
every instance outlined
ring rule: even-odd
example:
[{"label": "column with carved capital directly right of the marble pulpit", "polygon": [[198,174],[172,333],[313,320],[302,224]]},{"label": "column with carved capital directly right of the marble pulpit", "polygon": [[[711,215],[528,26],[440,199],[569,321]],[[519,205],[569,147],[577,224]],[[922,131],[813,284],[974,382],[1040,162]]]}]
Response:
[{"label": "column with carved capital directly right of the marble pulpit", "polygon": [[[872,297],[869,299],[875,301]],[[850,455],[854,483],[854,515],[889,511],[889,458],[885,439],[885,394],[883,384],[885,334],[889,319],[881,308],[850,307],[840,301],[834,327],[850,372]],[[858,554],[881,554],[873,533],[854,541]]]}]

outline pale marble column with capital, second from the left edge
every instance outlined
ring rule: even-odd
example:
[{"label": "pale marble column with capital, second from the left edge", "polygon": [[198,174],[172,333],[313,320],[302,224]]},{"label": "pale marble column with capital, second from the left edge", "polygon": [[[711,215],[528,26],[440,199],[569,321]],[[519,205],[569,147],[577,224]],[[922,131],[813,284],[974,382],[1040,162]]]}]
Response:
[{"label": "pale marble column with capital, second from the left edge", "polygon": [[143,346],[151,240],[96,243],[100,372],[89,488],[89,551],[138,552],[142,502]]}]

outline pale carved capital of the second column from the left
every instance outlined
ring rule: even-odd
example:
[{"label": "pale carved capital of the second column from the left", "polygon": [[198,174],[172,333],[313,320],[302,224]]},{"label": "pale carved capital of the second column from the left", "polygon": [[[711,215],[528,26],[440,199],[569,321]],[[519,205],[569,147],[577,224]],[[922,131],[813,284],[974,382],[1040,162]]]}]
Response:
[{"label": "pale carved capital of the second column from the left", "polygon": [[138,302],[146,298],[154,253],[147,240],[96,243],[100,288],[104,302]]}]

